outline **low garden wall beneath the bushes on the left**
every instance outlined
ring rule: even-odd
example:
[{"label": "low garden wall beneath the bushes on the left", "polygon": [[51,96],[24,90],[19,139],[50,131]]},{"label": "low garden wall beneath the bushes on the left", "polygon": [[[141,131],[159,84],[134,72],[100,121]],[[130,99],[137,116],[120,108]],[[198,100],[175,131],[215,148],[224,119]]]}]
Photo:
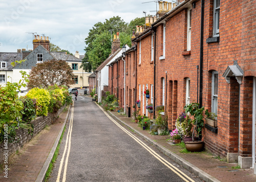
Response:
[{"label": "low garden wall beneath the bushes on the left", "polygon": [[[39,132],[42,131],[46,127],[46,125],[51,125],[58,117],[58,115],[66,108],[64,105],[58,112],[56,113],[48,113],[48,116],[40,116],[31,121],[34,125],[33,135],[29,134],[28,129],[18,128],[16,129],[16,137],[13,143],[8,141],[8,155],[10,156],[12,153],[16,152],[24,146],[24,144],[28,143],[34,136],[36,136]],[[4,143],[0,144],[0,164],[4,163],[5,156],[4,151],[6,151]]]}]

